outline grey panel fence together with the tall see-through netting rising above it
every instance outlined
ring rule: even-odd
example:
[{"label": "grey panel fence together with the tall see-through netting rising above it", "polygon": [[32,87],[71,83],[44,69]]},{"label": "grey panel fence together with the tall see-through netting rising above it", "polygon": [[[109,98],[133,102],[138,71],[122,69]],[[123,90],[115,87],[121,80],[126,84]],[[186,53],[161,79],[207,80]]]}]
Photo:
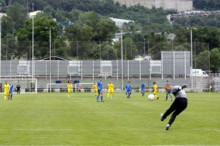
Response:
[{"label": "grey panel fence together with the tall see-through netting rising above it", "polygon": [[[121,47],[123,46],[123,47]],[[22,60],[13,60],[15,52],[24,52]],[[65,52],[65,51],[66,52]],[[178,50],[178,51],[175,51]],[[167,79],[173,84],[186,83],[189,87],[203,90],[210,81],[197,84],[199,79],[191,76],[191,69],[210,71],[210,54],[208,44],[190,42],[150,43],[123,41],[109,42],[63,42],[62,45],[52,42],[36,42],[34,60],[32,60],[31,42],[2,41],[1,78],[28,77],[37,78],[39,88],[57,80],[80,80],[94,82],[99,76],[107,81],[115,80],[117,88],[123,88],[126,80],[131,80],[138,87],[141,82],[152,86],[156,81],[163,87]],[[123,51],[123,53],[121,53]],[[43,55],[42,55],[42,52]],[[201,52],[204,52],[201,54]],[[68,53],[69,55],[65,55]],[[191,56],[192,54],[192,56]],[[37,60],[42,56],[72,56],[72,60]],[[136,55],[145,58],[133,60]],[[88,58],[88,60],[86,60]],[[123,61],[122,61],[123,60]],[[205,62],[205,63],[204,63]],[[193,90],[192,89],[192,90]]]}]

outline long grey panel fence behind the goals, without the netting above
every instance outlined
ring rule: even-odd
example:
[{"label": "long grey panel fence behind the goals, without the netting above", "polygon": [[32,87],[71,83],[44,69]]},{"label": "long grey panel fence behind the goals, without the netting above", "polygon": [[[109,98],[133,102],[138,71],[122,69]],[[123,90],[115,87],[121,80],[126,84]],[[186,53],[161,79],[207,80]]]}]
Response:
[{"label": "long grey panel fence behind the goals, without the netting above", "polygon": [[[167,57],[172,54],[171,52],[165,53],[168,53]],[[203,77],[200,79],[194,77],[194,80],[191,80],[190,68],[186,65],[189,60],[181,61],[184,58],[186,59],[186,57],[176,57],[176,65],[165,59],[163,62],[153,60],[35,60],[34,62],[11,60],[2,61],[1,78],[37,78],[38,88],[46,88],[48,83],[57,81],[66,83],[68,80],[93,83],[100,76],[104,78],[105,84],[109,80],[114,80],[115,86],[121,89],[127,80],[132,81],[133,87],[138,88],[142,82],[145,82],[150,88],[153,81],[156,81],[159,87],[163,87],[167,79],[173,84],[187,84],[189,87],[193,83],[194,89],[197,90],[208,88],[209,80]],[[172,60],[172,57],[170,59]],[[198,83],[201,80],[202,83]]]}]

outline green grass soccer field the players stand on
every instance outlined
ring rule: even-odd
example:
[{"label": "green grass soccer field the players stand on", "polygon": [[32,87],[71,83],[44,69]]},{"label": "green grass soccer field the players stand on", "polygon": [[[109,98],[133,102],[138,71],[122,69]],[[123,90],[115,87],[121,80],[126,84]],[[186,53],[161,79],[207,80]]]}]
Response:
[{"label": "green grass soccer field the players stand on", "polygon": [[[148,93],[147,93],[148,94]],[[188,93],[188,108],[165,131],[160,113],[172,103],[115,93],[14,94],[0,101],[0,145],[220,145],[220,94]]]}]

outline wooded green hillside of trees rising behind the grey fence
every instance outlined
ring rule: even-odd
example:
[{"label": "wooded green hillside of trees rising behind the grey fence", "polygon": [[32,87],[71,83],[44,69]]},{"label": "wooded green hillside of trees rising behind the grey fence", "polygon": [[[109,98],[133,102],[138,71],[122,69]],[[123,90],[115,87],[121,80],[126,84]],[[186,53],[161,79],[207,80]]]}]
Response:
[{"label": "wooded green hillside of trees rising behind the grey fence", "polygon": [[[219,16],[215,17],[216,21],[212,18],[198,18],[199,21],[196,18],[180,18],[171,24],[166,17],[175,13],[173,10],[126,7],[112,0],[29,0],[29,3],[3,0],[2,6],[7,13],[2,18],[2,53],[6,54],[3,59],[32,57],[33,24],[27,14],[42,10],[44,13],[34,18],[36,59],[49,56],[50,39],[54,55],[70,59],[120,59],[121,40],[113,42],[113,38],[121,31],[124,32],[125,59],[134,59],[137,55],[160,59],[160,51],[190,50],[189,30],[193,29],[196,66],[212,70],[220,67]],[[129,19],[135,23],[118,28],[109,17]],[[204,60],[211,61],[211,66],[205,66]]]}]

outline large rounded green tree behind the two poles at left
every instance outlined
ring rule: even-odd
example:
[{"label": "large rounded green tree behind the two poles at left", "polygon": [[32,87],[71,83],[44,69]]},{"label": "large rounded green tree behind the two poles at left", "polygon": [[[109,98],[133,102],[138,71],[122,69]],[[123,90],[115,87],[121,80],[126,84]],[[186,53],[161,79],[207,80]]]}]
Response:
[{"label": "large rounded green tree behind the two poles at left", "polygon": [[[58,36],[59,27],[53,19],[47,17],[36,17],[34,19],[34,38],[35,38],[35,57],[41,59],[42,57],[49,56],[49,31],[51,29],[52,42]],[[28,19],[24,28],[17,32],[19,40],[19,57],[29,52],[32,40],[32,20]],[[25,43],[24,43],[25,42]],[[28,45],[27,45],[27,44]],[[28,58],[30,56],[28,55]]]}]

